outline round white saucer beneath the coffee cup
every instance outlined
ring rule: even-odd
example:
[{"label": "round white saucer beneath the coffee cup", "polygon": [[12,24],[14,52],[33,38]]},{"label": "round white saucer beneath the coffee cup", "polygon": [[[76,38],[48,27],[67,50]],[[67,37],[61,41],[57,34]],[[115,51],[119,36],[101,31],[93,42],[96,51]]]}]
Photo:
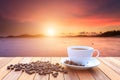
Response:
[{"label": "round white saucer beneath the coffee cup", "polygon": [[91,58],[90,61],[88,61],[88,64],[86,64],[85,66],[76,66],[76,65],[70,65],[70,64],[66,64],[65,61],[66,60],[70,60],[69,58],[62,58],[61,59],[61,63],[71,69],[76,69],[76,70],[85,70],[85,69],[90,69],[93,67],[96,67],[100,64],[100,61],[97,60],[96,58]]}]

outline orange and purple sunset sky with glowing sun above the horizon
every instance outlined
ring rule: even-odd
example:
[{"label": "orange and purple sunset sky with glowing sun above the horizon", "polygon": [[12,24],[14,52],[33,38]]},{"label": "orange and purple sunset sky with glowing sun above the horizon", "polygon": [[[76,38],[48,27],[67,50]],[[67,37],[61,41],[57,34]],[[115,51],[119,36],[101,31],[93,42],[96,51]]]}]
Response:
[{"label": "orange and purple sunset sky with glowing sun above the horizon", "polygon": [[0,35],[120,30],[120,0],[0,0]]}]

